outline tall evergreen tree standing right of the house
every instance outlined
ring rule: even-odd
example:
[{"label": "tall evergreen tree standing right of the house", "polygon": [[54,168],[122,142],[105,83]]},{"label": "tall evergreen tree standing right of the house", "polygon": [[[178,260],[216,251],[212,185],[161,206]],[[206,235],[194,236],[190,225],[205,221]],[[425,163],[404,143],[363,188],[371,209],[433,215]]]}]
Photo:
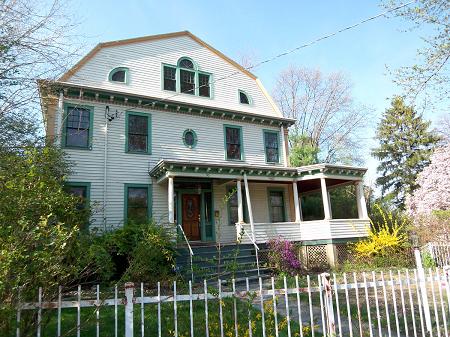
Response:
[{"label": "tall evergreen tree standing right of the house", "polygon": [[405,208],[405,196],[417,187],[417,175],[430,163],[430,155],[439,137],[403,98],[394,97],[378,124],[380,146],[372,155],[380,161],[376,183],[387,200]]}]

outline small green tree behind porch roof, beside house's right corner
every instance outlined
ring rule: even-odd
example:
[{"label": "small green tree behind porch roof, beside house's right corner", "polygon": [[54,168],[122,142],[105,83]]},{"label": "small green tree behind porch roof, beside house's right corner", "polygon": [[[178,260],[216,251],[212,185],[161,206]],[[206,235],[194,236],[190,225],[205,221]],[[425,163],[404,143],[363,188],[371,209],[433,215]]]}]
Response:
[{"label": "small green tree behind porch roof, beside house's right corner", "polygon": [[312,144],[306,136],[289,136],[291,145],[289,162],[291,166],[303,166],[317,164],[319,162],[319,148]]}]

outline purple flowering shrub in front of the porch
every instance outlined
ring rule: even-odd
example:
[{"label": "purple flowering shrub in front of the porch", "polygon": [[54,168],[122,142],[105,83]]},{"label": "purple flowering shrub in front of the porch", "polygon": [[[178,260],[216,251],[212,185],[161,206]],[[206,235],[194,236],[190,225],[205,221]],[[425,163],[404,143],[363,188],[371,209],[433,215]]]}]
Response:
[{"label": "purple flowering shrub in front of the porch", "polygon": [[280,273],[295,275],[301,264],[298,259],[297,247],[290,241],[278,237],[267,243],[269,247],[269,266]]}]

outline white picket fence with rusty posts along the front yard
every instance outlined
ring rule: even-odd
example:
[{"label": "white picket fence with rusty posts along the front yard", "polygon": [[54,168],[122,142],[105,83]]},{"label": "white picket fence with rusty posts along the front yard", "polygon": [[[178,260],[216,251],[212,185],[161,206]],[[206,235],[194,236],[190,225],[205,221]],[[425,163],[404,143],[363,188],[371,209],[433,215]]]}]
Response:
[{"label": "white picket fence with rusty posts along the front yard", "polygon": [[[278,280],[280,284],[274,278],[257,281],[252,284],[247,279],[241,289],[234,280],[229,283],[205,280],[195,287],[189,282],[182,293],[177,291],[180,286],[177,282],[170,291],[162,291],[158,283],[155,295],[150,295],[144,284],[135,288],[133,283],[127,283],[124,292],[119,292],[116,287],[114,298],[107,299],[101,298],[106,290],[101,292],[99,286],[83,292],[78,286],[71,293],[64,293],[60,288],[56,301],[44,301],[43,290],[39,289],[37,302],[20,305],[16,335],[21,336],[21,315],[24,311],[34,310],[37,311],[38,337],[224,337],[231,334],[230,329],[235,337],[244,334],[250,337],[450,336],[448,270],[424,271],[419,268],[387,273],[308,275],[306,278],[284,277]],[[246,314],[242,314],[242,309],[238,310],[242,303],[248,304],[244,310]],[[100,314],[108,307],[114,309],[113,332],[102,331]],[[153,322],[156,322],[151,326],[146,321],[150,307]],[[69,308],[76,309],[76,327],[72,334],[62,331],[62,311]],[[81,311],[86,308],[94,308],[93,322],[82,319]],[[120,324],[119,308],[121,315],[124,314],[124,323]],[[46,329],[44,333],[42,315],[48,310],[54,311],[56,324],[54,331]],[[91,332],[85,334],[89,324]],[[217,331],[213,331],[214,324]]]}]

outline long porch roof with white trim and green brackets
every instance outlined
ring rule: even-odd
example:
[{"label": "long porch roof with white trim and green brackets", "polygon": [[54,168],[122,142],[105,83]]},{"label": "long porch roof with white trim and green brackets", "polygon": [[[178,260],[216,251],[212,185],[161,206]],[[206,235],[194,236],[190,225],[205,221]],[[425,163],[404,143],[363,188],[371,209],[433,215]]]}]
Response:
[{"label": "long porch roof with white trim and green brackets", "polygon": [[326,178],[334,185],[342,181],[361,180],[366,171],[367,169],[362,167],[333,164],[284,167],[161,159],[149,170],[149,175],[161,182],[169,176],[239,179],[245,173],[250,180],[292,182]]}]

